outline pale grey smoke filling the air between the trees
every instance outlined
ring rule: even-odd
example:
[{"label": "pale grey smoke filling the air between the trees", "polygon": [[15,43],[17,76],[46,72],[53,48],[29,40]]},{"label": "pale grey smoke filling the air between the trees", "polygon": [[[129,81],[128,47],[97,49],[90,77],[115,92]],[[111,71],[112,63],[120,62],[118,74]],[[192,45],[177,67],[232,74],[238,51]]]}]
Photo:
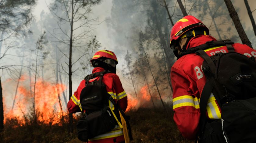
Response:
[{"label": "pale grey smoke filling the air between the trees", "polygon": [[[47,4],[46,4],[46,3]],[[21,65],[22,61],[22,51],[25,50],[24,53],[24,67],[23,67],[23,75],[26,75],[24,78],[25,80],[22,81],[24,89],[28,89],[30,85],[29,79],[31,78],[33,81],[34,78],[34,68],[35,68],[35,54],[34,50],[36,48],[36,41],[39,39],[40,35],[43,31],[46,31],[46,37],[48,40],[48,44],[44,45],[44,51],[49,51],[50,53],[47,55],[46,59],[40,59],[39,64],[43,66],[38,66],[38,75],[40,75],[40,79],[44,79],[45,81],[50,83],[56,82],[56,57],[58,56],[58,71],[62,77],[62,84],[65,86],[68,83],[66,63],[68,62],[67,58],[63,55],[69,52],[68,46],[57,42],[56,38],[52,35],[53,32],[58,33],[60,32],[57,30],[58,25],[56,24],[56,19],[50,12],[47,5],[51,6],[52,0],[46,1],[38,1],[37,6],[34,8],[33,14],[35,15],[34,21],[31,23],[29,30],[33,32],[33,34],[27,35],[27,37],[18,37],[18,38],[11,38],[2,43],[2,49],[0,53],[4,53],[5,49],[7,49],[8,45],[15,45],[13,48],[9,49],[6,53],[7,55],[1,59],[1,66],[5,65]],[[155,2],[155,7],[152,7],[151,3]],[[135,62],[140,58],[141,54],[138,50],[138,39],[139,33],[143,32],[148,37],[148,42],[151,42],[147,47],[147,53],[150,57],[150,65],[153,68],[153,74],[157,77],[157,83],[160,85],[161,94],[164,97],[164,100],[169,101],[171,100],[171,91],[168,85],[168,80],[166,80],[166,75],[161,72],[163,68],[163,63],[159,64],[160,61],[164,61],[164,57],[162,56],[162,51],[159,46],[160,39],[165,41],[165,45],[169,46],[169,33],[172,28],[170,21],[168,19],[168,15],[160,4],[162,1],[145,1],[145,0],[112,0],[112,1],[102,1],[99,5],[92,7],[92,12],[88,17],[90,18],[98,18],[94,23],[92,23],[90,35],[97,36],[97,40],[101,43],[101,49],[109,49],[116,53],[116,56],[119,60],[119,64],[117,65],[117,74],[119,75],[122,83],[123,88],[128,93],[128,97],[130,101],[133,100],[140,100],[140,103],[137,103],[139,106],[153,106],[151,100],[146,100],[141,97],[142,93],[140,92],[143,87],[146,86],[144,82],[144,78],[137,74],[135,78],[136,82],[136,90],[140,94],[140,97],[136,98],[134,95],[133,87],[131,86],[131,82],[127,80],[125,77],[122,76],[123,64],[126,63],[125,54],[128,50],[131,53],[131,60],[133,64],[133,68],[140,67],[140,64],[135,64]],[[226,5],[223,3],[222,0],[209,0],[209,1],[196,1],[190,0],[186,2],[186,11],[189,12],[189,15],[194,15],[198,17],[198,19],[202,20],[206,26],[210,29],[210,34],[216,39],[218,38],[218,33],[215,28],[215,24],[213,19],[209,13],[208,5],[206,2],[209,3],[209,7],[214,14],[214,19],[216,26],[220,32],[220,36],[222,39],[231,39],[233,42],[240,42],[240,38],[238,37],[238,33],[236,32],[235,27],[233,26],[233,21],[229,17],[229,13],[226,9]],[[253,1],[248,1],[253,11],[256,9],[256,3]],[[176,1],[169,1],[167,0],[167,4],[169,5],[169,10],[173,14],[172,20],[175,23],[180,18],[182,18],[182,14],[180,8],[176,4]],[[233,1],[233,5],[235,9],[238,11],[239,18],[241,23],[247,33],[248,38],[251,40],[254,49],[256,48],[256,37],[252,31],[251,21],[247,14],[247,10],[245,8],[243,1]],[[157,26],[154,22],[157,22],[156,18],[153,18],[153,8],[158,10],[157,17],[161,24],[161,30],[163,32],[164,37],[159,38],[158,32],[156,32],[155,27]],[[60,12],[61,13],[61,12]],[[255,15],[255,11],[253,15]],[[68,30],[68,23],[62,25],[63,30]],[[153,29],[153,30],[152,30]],[[85,29],[83,29],[85,30]],[[155,31],[154,31],[155,30]],[[74,33],[78,34],[78,33]],[[56,36],[56,35],[55,35]],[[63,38],[64,36],[59,36],[59,38]],[[91,40],[91,37],[84,39],[81,43],[86,45],[86,43]],[[146,44],[145,44],[146,45]],[[19,48],[16,48],[19,47]],[[56,52],[57,49],[57,52]],[[60,51],[61,49],[62,51]],[[171,53],[170,51],[168,51]],[[167,52],[167,53],[168,53]],[[1,54],[2,55],[2,54]],[[169,54],[171,55],[171,54]],[[73,51],[73,57],[77,58],[81,56],[81,52],[79,49]],[[91,57],[88,55],[87,58]],[[174,62],[174,57],[169,57],[170,61]],[[85,63],[88,64],[86,58],[84,59]],[[90,65],[87,65],[88,69],[90,69]],[[171,65],[169,65],[171,66]],[[73,91],[76,90],[80,81],[84,78],[86,74],[89,74],[90,71],[84,71],[81,69],[81,64],[78,62],[73,65],[73,70],[78,69],[73,74]],[[160,69],[160,70],[159,70]],[[16,88],[18,71],[20,71],[20,66],[17,66],[16,69],[9,71],[4,70],[2,72],[1,79],[4,81],[3,85],[3,93],[4,93],[4,104],[5,104],[5,111],[9,110],[12,106],[12,101],[14,98],[14,89]],[[31,73],[31,77],[29,74]],[[154,81],[148,71],[145,72],[148,77],[148,82],[150,85],[151,94],[153,99],[158,102],[159,99],[158,93],[156,91],[156,87],[154,85]],[[168,88],[167,88],[168,87]],[[20,92],[21,92],[20,88]],[[65,90],[66,96],[68,90]],[[28,93],[27,93],[28,94]],[[147,89],[147,95],[149,91]],[[19,96],[17,97],[19,98]],[[58,99],[57,97],[55,97]],[[68,97],[66,97],[68,98]],[[134,99],[133,99],[134,98]],[[19,100],[23,102],[23,98]],[[24,98],[25,99],[25,98]],[[148,98],[147,98],[148,99]],[[151,99],[151,98],[150,98]],[[27,100],[27,99],[26,99]],[[63,109],[66,109],[66,104],[64,102],[63,96],[61,96]],[[144,101],[147,103],[144,103]],[[18,103],[18,101],[17,101]],[[133,102],[132,102],[133,103]],[[27,104],[27,101],[23,102],[23,104]],[[17,109],[19,107],[17,106]],[[21,106],[21,105],[20,105]],[[51,105],[54,106],[54,105]],[[159,105],[160,106],[160,105]],[[57,108],[57,105],[56,105]]]}]

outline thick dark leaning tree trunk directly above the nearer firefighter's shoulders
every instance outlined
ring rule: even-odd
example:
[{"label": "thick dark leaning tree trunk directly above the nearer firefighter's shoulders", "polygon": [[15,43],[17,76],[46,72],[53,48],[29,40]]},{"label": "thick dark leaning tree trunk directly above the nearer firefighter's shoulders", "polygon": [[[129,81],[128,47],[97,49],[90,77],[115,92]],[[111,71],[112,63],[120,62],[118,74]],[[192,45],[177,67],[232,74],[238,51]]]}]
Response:
[{"label": "thick dark leaning tree trunk directly above the nearer firefighter's shoulders", "polygon": [[232,20],[233,20],[233,22],[235,24],[236,30],[237,30],[237,32],[239,34],[239,37],[240,37],[242,43],[246,44],[246,45],[248,45],[249,47],[252,48],[251,42],[248,39],[246,33],[244,32],[244,28],[243,28],[243,26],[242,26],[242,24],[241,24],[241,22],[239,20],[238,14],[237,14],[237,12],[236,12],[232,2],[230,0],[224,0],[224,2],[227,5],[227,8],[229,10],[229,15],[230,15],[230,17],[232,18]]}]

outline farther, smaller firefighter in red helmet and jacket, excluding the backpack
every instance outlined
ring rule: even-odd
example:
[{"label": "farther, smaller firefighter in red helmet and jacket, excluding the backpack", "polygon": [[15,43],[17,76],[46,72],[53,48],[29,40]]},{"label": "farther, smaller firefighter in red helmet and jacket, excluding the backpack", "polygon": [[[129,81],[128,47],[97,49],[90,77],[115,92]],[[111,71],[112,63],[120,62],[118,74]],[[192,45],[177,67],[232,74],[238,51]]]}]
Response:
[{"label": "farther, smaller firefighter in red helmet and jacket, excluding the backpack", "polygon": [[[127,95],[123,90],[119,77],[116,75],[117,63],[116,55],[109,50],[99,50],[91,59],[91,64],[94,67],[92,73],[97,73],[104,70],[111,72],[104,74],[102,82],[105,83],[108,94],[110,94],[115,102],[119,104],[121,109],[125,111],[127,107]],[[99,77],[91,79],[89,82],[93,82],[95,80],[99,80]],[[69,113],[81,112],[80,93],[84,87],[85,80],[82,80],[79,87],[68,102],[67,107]],[[112,110],[114,110],[114,105],[110,101],[109,107],[112,107]],[[117,125],[112,131],[91,138],[89,143],[121,143],[124,141],[123,130]]]}]

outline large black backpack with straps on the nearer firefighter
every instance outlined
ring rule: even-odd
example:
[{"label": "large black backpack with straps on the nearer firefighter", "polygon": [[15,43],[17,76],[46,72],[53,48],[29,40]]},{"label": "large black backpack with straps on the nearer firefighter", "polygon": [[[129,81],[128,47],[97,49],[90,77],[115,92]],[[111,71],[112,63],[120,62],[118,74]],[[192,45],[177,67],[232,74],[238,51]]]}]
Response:
[{"label": "large black backpack with straps on the nearer firefighter", "polygon": [[[234,52],[231,44],[230,40],[209,41],[183,53],[197,53],[204,59],[202,70],[207,80],[200,97],[198,142],[256,142],[255,58]],[[227,46],[229,53],[208,56],[204,52],[216,46]],[[206,117],[211,93],[221,106],[221,120]]]}]

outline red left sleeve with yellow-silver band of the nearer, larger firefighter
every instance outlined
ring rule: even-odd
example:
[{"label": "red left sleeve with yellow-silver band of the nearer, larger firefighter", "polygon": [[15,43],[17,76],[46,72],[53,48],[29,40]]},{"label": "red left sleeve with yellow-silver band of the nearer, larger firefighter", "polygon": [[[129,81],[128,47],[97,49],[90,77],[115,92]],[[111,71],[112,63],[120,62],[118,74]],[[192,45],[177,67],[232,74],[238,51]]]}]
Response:
[{"label": "red left sleeve with yellow-silver band of the nearer, larger firefighter", "polygon": [[173,67],[171,79],[173,86],[173,119],[181,134],[187,139],[194,140],[196,139],[200,119],[199,102],[195,91],[193,91],[196,83],[187,74]]}]

